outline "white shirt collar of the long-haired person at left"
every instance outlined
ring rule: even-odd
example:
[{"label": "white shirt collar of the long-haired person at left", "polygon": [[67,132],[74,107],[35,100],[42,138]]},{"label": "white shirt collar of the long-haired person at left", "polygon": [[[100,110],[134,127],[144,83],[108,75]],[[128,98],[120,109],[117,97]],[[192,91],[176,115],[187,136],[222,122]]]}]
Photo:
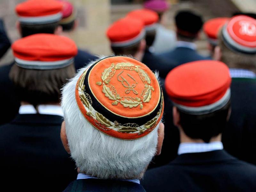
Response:
[{"label": "white shirt collar of the long-haired person at left", "polygon": [[[44,115],[63,116],[62,109],[59,105],[38,105],[38,113]],[[21,105],[19,114],[36,114],[37,111],[33,105]]]}]

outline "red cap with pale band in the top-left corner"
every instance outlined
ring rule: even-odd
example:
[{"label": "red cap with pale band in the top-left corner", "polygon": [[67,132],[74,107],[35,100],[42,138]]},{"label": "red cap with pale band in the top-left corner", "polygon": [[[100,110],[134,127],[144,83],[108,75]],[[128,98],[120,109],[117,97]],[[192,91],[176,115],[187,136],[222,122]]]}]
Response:
[{"label": "red cap with pale band in the top-left corner", "polygon": [[56,0],[27,0],[16,6],[18,20],[22,24],[54,23],[61,19],[63,4]]}]

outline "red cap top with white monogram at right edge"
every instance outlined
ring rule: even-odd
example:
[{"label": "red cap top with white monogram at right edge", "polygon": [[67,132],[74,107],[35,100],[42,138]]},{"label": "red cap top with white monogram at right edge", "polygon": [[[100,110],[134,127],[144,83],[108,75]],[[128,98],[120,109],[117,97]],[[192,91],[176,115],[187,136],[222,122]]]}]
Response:
[{"label": "red cap top with white monogram at right edge", "polygon": [[238,44],[256,48],[256,20],[239,15],[231,18],[227,26],[228,34]]}]

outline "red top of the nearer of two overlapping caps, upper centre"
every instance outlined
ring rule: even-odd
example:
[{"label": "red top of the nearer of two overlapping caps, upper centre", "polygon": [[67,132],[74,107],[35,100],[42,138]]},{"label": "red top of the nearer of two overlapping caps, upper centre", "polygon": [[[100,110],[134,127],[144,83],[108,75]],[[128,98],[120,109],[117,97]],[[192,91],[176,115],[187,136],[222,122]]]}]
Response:
[{"label": "red top of the nearer of two overlapping caps, upper centre", "polygon": [[142,21],[125,17],[114,22],[106,34],[111,42],[127,41],[138,36],[143,28]]}]

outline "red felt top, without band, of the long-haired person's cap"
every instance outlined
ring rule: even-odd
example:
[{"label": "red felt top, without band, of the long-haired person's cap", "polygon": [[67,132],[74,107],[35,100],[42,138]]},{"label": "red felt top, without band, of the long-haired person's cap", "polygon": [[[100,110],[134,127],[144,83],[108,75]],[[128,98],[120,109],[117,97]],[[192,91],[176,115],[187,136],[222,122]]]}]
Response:
[{"label": "red felt top, without band, of the long-haired person's cap", "polygon": [[15,41],[13,55],[28,61],[58,61],[70,59],[77,54],[73,40],[53,34],[35,34]]}]

